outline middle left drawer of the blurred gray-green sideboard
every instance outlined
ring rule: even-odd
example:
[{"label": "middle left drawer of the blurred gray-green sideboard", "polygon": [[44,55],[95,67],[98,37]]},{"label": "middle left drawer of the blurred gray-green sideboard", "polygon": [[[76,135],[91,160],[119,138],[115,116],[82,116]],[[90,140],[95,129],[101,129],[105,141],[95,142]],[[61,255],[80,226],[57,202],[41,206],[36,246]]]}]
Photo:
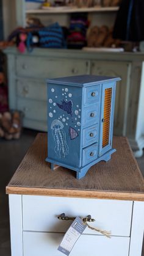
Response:
[{"label": "middle left drawer of the blurred gray-green sideboard", "polygon": [[18,97],[46,101],[47,90],[45,81],[18,79],[16,82],[16,94],[18,95]]}]

